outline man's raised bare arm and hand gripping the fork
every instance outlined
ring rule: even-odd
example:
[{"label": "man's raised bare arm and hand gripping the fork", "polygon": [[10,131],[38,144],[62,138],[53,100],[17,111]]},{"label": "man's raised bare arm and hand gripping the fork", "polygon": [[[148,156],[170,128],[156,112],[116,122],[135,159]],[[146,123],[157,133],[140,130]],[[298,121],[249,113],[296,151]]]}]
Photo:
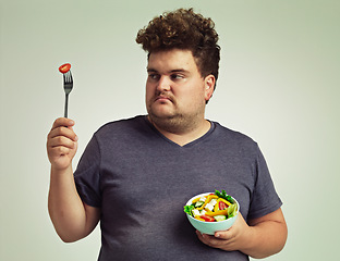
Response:
[{"label": "man's raised bare arm and hand gripping the fork", "polygon": [[97,225],[100,209],[81,200],[73,177],[72,159],[77,148],[73,121],[58,119],[47,138],[51,162],[48,210],[54,228],[63,241],[75,241],[87,236]]}]

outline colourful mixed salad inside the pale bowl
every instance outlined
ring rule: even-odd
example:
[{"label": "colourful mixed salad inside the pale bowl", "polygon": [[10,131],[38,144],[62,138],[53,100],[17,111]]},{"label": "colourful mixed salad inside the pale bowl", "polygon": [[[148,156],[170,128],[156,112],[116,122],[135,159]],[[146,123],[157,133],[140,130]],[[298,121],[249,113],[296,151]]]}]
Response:
[{"label": "colourful mixed salad inside the pale bowl", "polygon": [[193,199],[191,204],[184,206],[184,212],[199,221],[219,222],[235,216],[238,204],[226,190],[215,190],[215,194]]}]

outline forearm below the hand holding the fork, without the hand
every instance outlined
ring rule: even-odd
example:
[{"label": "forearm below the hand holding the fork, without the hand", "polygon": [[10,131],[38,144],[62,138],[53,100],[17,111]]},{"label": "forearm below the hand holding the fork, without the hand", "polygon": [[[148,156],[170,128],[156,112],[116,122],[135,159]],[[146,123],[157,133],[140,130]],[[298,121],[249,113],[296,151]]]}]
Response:
[{"label": "forearm below the hand holding the fork, without the hand", "polygon": [[51,167],[48,209],[54,228],[63,241],[86,236],[86,212],[76,191],[72,166],[65,171]]}]

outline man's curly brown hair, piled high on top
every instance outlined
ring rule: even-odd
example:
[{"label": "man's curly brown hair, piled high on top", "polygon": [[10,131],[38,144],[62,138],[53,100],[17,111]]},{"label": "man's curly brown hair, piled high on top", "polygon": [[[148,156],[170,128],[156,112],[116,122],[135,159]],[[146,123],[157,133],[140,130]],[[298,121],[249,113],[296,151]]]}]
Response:
[{"label": "man's curly brown hair, piled high on top", "polygon": [[193,9],[166,12],[139,29],[136,42],[148,52],[169,49],[191,50],[203,77],[218,78],[220,47],[211,18],[194,13]]}]

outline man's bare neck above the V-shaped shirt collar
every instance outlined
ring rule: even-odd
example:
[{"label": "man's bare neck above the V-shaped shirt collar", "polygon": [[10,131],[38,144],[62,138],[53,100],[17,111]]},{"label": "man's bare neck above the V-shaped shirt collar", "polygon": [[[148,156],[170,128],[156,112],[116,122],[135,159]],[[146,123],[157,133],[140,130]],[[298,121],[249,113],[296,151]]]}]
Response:
[{"label": "man's bare neck above the V-shaped shirt collar", "polygon": [[190,144],[202,136],[204,136],[209,129],[210,129],[210,122],[202,119],[201,122],[198,122],[195,126],[162,126],[157,123],[155,123],[149,116],[149,122],[157,128],[158,132],[160,132],[163,136],[166,136],[171,141],[184,146],[186,144]]}]

